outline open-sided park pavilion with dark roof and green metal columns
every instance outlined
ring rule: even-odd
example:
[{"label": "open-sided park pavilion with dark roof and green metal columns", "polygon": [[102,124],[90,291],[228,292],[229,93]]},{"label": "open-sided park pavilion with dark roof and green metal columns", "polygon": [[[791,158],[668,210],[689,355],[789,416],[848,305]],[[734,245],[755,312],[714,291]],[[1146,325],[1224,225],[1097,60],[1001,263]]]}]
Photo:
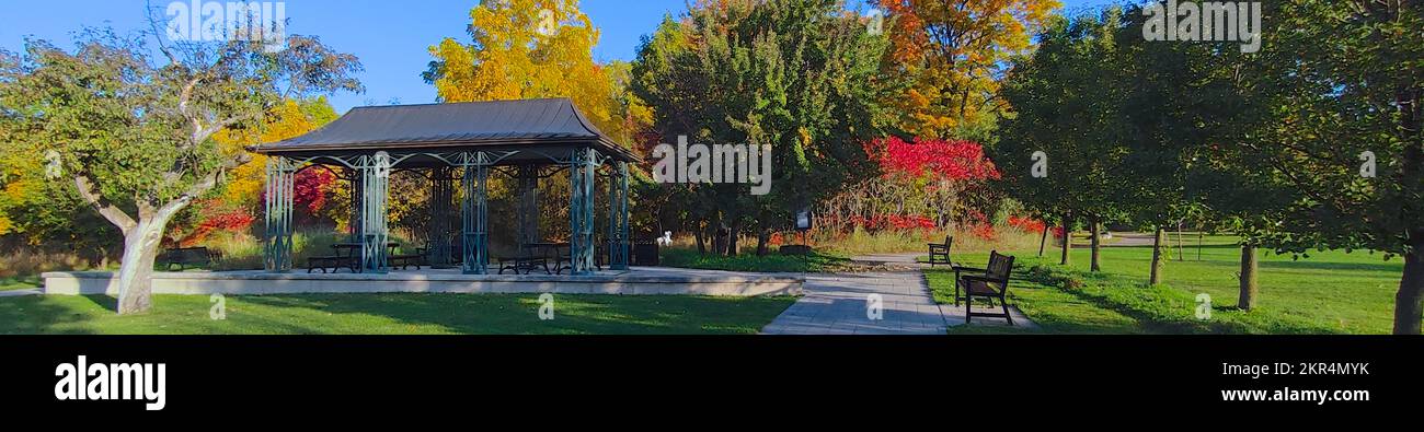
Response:
[{"label": "open-sided park pavilion with dark roof and green metal columns", "polygon": [[[488,274],[487,183],[493,173],[517,183],[518,232],[538,242],[538,179],[567,171],[570,178],[570,266],[594,273],[594,180],[608,179],[608,264],[628,269],[628,163],[631,151],[598,131],[567,98],[355,108],[310,134],[249,148],[269,156],[265,269],[290,271],[293,179],[303,169],[330,169],[352,183],[353,260],[360,273],[383,274],[387,261],[387,196],[393,171],[416,171],[430,180],[427,259],[449,266],[459,236],[464,274]],[[454,188],[461,188],[453,226]],[[521,244],[523,244],[521,243]]]}]

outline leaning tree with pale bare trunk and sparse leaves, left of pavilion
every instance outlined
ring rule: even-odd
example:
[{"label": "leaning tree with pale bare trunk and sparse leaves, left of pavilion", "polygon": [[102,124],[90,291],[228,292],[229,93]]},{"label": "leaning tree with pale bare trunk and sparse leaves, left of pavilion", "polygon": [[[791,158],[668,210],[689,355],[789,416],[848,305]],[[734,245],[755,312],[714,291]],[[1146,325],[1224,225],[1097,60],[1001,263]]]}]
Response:
[{"label": "leaning tree with pale bare trunk and sparse leaves, left of pavilion", "polygon": [[313,37],[269,50],[248,40],[167,44],[154,34],[162,63],[147,37],[85,31],[73,54],[27,41],[21,61],[0,65],[0,107],[17,135],[58,153],[54,178],[124,233],[120,314],[152,306],[150,274],[169,219],[248,159],[214,134],[256,126],[292,97],[362,90],[349,77],[360,70],[356,57]]}]

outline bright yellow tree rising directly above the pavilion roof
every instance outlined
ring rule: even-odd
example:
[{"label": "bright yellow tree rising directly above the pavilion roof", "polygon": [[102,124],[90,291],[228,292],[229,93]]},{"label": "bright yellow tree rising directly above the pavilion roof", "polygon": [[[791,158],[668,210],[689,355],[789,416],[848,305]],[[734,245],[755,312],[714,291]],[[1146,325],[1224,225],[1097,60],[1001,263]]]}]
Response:
[{"label": "bright yellow tree rising directly above the pavilion roof", "polygon": [[471,43],[430,47],[426,81],[440,101],[565,97],[604,134],[628,142],[632,128],[617,65],[592,58],[598,28],[577,0],[483,0],[470,10]]}]

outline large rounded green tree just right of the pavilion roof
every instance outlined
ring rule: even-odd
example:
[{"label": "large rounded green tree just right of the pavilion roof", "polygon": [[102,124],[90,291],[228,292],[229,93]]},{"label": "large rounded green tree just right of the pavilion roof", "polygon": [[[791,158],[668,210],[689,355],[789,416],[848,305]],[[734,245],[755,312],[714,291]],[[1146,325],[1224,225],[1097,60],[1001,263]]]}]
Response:
[{"label": "large rounded green tree just right of the pavilion roof", "polygon": [[685,135],[772,148],[769,195],[735,183],[676,186],[698,206],[693,227],[729,239],[753,227],[765,253],[797,209],[876,175],[863,144],[890,124],[880,104],[894,82],[880,71],[887,47],[834,0],[703,1],[682,21],[665,18],[632,68],[661,142]]}]

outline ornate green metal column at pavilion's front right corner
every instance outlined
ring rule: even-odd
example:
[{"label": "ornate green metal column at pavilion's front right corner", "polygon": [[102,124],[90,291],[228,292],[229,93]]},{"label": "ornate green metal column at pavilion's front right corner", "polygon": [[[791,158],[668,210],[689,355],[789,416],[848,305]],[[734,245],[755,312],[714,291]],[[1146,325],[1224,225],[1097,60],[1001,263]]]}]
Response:
[{"label": "ornate green metal column at pavilion's front right corner", "polygon": [[594,171],[598,153],[591,148],[572,152],[570,179],[570,267],[571,274],[594,274]]}]

